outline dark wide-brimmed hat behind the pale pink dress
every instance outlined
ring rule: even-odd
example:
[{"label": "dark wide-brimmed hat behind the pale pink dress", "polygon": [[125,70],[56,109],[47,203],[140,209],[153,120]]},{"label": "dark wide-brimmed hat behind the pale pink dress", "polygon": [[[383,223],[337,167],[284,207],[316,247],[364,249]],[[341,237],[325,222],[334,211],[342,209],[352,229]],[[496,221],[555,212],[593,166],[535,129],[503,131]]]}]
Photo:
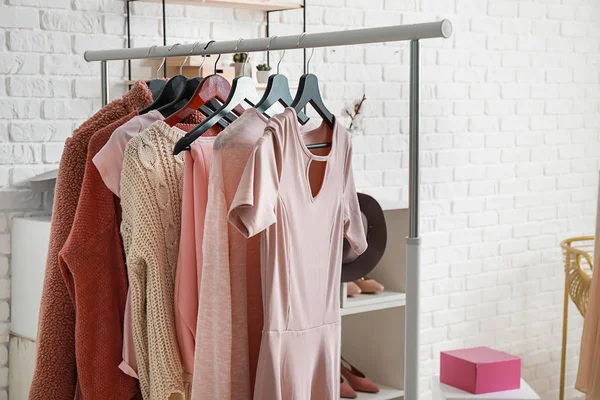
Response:
[{"label": "dark wide-brimmed hat behind the pale pink dress", "polygon": [[363,254],[358,256],[348,240],[344,239],[342,282],[355,281],[371,272],[381,261],[387,245],[385,215],[377,200],[369,195],[358,193],[358,204],[368,247]]}]

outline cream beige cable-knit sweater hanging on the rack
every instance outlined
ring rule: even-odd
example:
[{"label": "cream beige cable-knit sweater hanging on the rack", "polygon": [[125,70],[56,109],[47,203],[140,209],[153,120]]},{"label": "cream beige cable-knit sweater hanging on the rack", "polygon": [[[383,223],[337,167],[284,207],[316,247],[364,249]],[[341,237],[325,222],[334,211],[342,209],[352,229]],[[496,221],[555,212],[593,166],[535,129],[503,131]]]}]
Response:
[{"label": "cream beige cable-knit sweater hanging on the rack", "polygon": [[186,399],[174,319],[183,186],[180,136],[158,121],[131,139],[121,174],[121,235],[131,288],[133,341],[144,399]]}]

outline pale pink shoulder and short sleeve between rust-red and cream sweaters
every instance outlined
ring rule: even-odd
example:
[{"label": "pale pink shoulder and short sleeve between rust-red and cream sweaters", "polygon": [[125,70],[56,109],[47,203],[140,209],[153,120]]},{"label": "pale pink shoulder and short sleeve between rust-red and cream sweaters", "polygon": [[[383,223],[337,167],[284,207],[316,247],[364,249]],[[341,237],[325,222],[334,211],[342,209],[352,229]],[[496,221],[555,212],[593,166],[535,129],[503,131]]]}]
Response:
[{"label": "pale pink shoulder and short sleeve between rust-red and cream sweaters", "polygon": [[92,159],[106,187],[117,196],[120,197],[121,170],[123,169],[123,155],[127,143],[132,137],[156,121],[162,121],[163,119],[163,115],[157,110],[132,118],[111,135],[108,142]]}]

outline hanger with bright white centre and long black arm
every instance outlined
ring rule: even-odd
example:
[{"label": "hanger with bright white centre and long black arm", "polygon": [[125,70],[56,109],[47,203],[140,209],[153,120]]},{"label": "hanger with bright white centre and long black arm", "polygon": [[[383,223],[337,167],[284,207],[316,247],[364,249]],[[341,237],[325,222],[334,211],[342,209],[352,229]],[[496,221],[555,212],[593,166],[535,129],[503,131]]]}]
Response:
[{"label": "hanger with bright white centre and long black arm", "polygon": [[[238,41],[238,46],[242,42],[243,39]],[[237,47],[235,51],[237,51]],[[248,59],[246,58],[246,61]],[[244,63],[244,68],[246,67],[246,63]],[[188,132],[184,137],[179,139],[179,141],[175,144],[175,149],[173,150],[174,154],[177,155],[184,150],[188,150],[190,145],[202,136],[206,131],[215,126],[223,117],[233,111],[236,107],[240,106],[244,102],[254,106],[258,101],[258,93],[256,92],[256,86],[254,85],[254,80],[249,78],[244,74],[238,78],[233,80],[231,85],[231,92],[229,93],[229,97],[225,101],[225,104],[221,106],[214,114],[210,117],[202,121],[200,125],[192,129]]]}]

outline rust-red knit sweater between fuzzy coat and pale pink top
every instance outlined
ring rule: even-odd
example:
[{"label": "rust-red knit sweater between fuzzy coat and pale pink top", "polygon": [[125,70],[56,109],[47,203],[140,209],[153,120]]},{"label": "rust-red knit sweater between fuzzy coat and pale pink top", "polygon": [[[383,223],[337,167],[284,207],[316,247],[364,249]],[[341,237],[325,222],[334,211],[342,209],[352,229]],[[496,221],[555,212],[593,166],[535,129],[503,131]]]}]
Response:
[{"label": "rust-red knit sweater between fuzzy coat and pale pink top", "polygon": [[128,287],[119,234],[119,200],[104,185],[92,163],[121,122],[135,115],[130,113],[92,136],[75,219],[59,252],[60,268],[77,316],[77,375],[86,400],[130,400],[139,390],[137,380],[117,368]]}]

